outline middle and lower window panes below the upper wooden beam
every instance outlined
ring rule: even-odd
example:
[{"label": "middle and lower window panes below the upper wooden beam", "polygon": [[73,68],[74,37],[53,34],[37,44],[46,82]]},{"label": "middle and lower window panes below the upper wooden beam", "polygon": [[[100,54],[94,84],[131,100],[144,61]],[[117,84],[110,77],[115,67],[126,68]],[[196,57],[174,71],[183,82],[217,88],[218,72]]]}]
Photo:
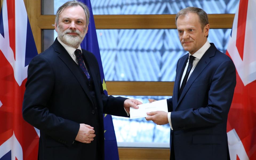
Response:
[{"label": "middle and lower window panes below the upper wooden beam", "polygon": [[[47,42],[46,45],[51,45],[57,37],[56,32],[53,32],[55,31],[43,30],[43,42]],[[231,29],[210,29],[208,41],[213,42],[225,53],[230,32]],[[97,38],[106,81],[174,81],[176,63],[187,53],[179,42],[176,29],[97,30]],[[43,48],[48,47],[44,45]],[[147,103],[148,98],[171,98],[126,95],[122,97],[138,99],[143,103]],[[118,146],[169,146],[169,124],[158,126],[145,118],[112,117]],[[152,142],[154,144],[149,145]]]}]

